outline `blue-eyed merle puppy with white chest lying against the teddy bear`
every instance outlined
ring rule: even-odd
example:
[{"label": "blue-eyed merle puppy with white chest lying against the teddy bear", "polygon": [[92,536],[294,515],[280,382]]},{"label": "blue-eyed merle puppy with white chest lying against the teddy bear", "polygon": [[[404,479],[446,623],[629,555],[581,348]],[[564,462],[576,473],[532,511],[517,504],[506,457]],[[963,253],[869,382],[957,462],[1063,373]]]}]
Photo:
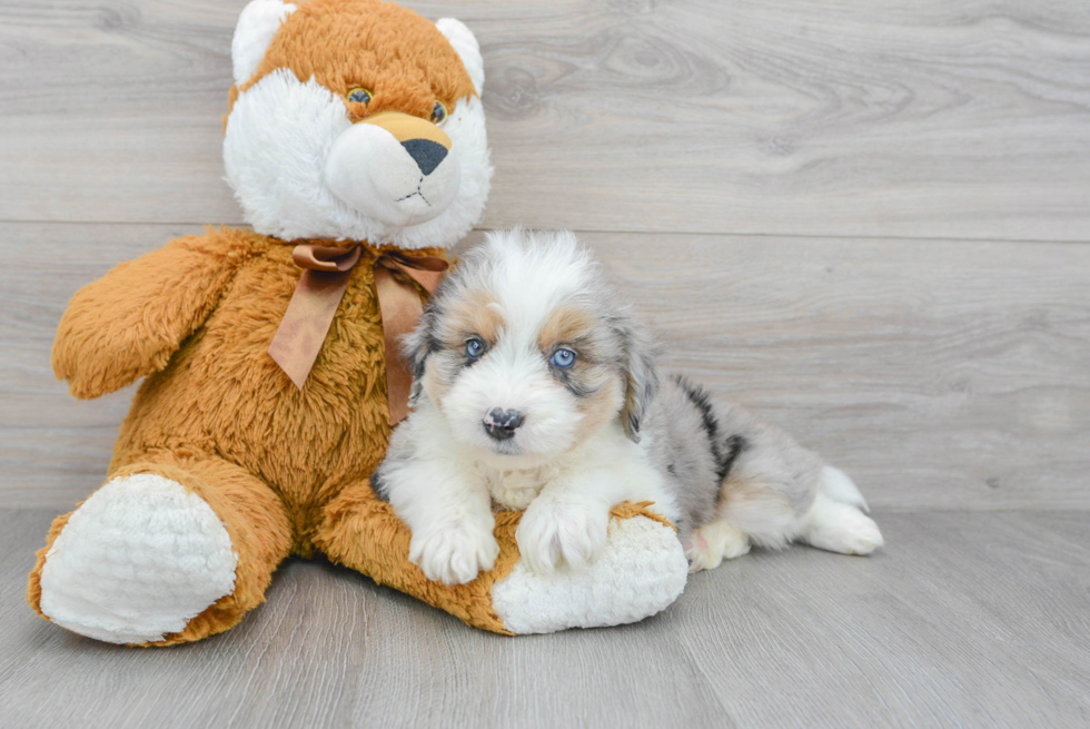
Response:
[{"label": "blue-eyed merle puppy with white chest lying against the teddy bear", "polygon": [[409,526],[409,560],[460,584],[495,563],[493,509],[524,510],[538,572],[593,561],[611,509],[653,501],[693,571],[800,540],[882,544],[852,481],[682,377],[571,233],[493,233],[406,338],[414,412],[371,483]]}]

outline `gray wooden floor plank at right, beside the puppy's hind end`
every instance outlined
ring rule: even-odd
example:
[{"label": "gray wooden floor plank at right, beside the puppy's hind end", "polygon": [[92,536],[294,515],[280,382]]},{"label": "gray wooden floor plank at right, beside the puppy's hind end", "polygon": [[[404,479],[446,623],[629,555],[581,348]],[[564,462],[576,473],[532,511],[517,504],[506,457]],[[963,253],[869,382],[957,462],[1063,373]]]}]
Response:
[{"label": "gray wooden floor plank at right, beside the puppy's hind end", "polygon": [[878,520],[878,559],[761,553],[690,581],[670,620],[740,726],[1084,722],[1086,514]]}]

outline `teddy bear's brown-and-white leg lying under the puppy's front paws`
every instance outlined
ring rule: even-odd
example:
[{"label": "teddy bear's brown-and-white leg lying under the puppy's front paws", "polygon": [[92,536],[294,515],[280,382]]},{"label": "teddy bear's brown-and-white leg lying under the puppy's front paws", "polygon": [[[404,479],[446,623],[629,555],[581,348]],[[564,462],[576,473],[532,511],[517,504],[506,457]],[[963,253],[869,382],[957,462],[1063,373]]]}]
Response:
[{"label": "teddy bear's brown-and-white leg lying under the puppy's front paws", "polygon": [[408,561],[412,534],[366,483],[326,509],[316,542],[329,559],[498,633],[543,633],[635,622],[668,607],[685,588],[688,561],[674,528],[647,504],[620,504],[598,560],[585,570],[542,575],[519,562],[522,514],[496,514],[499,556],[466,584],[424,577]]}]

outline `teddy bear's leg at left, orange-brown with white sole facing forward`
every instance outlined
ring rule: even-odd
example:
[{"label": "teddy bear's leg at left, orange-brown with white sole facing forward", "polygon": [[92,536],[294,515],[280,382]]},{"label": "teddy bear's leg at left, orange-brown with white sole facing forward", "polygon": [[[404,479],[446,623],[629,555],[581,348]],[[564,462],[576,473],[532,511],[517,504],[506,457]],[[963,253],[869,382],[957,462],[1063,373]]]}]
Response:
[{"label": "teddy bear's leg at left, orange-brown with white sole facing forward", "polygon": [[159,453],[53,522],[27,597],[98,640],[195,641],[260,604],[290,549],[287,514],[266,484],[219,459]]}]

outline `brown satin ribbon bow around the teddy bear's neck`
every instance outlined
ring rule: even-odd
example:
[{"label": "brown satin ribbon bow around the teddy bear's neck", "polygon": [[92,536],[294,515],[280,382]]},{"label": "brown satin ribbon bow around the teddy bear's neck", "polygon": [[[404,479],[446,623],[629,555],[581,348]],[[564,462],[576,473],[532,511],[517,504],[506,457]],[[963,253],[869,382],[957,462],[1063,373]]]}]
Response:
[{"label": "brown satin ribbon bow around the teddy bear's neck", "polygon": [[[303,244],[291,252],[291,259],[303,275],[284,313],[280,326],[269,345],[269,355],[303,390],[321,343],[348,288],[351,270],[363,257],[364,246],[350,248]],[[399,356],[397,338],[409,332],[424,308],[413,282],[429,294],[447,269],[443,258],[414,256],[402,250],[376,252],[375,294],[383,316],[383,342],[386,345],[386,392],[389,396],[390,425],[408,414],[413,376]]]}]

